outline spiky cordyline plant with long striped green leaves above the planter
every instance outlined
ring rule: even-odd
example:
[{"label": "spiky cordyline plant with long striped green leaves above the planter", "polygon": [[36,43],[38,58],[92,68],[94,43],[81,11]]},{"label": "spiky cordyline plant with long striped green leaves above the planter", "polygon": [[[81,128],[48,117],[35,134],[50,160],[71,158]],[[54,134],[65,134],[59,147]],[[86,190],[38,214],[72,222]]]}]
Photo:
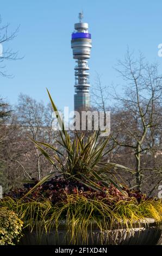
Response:
[{"label": "spiky cordyline plant with long striped green leaves above the planter", "polygon": [[[47,90],[48,92],[48,90]],[[112,168],[130,169],[115,163],[104,163],[102,158],[108,154],[105,152],[105,148],[109,142],[109,137],[99,139],[100,131],[95,131],[88,138],[84,138],[84,135],[79,135],[76,132],[76,138],[71,139],[70,135],[65,130],[64,121],[59,115],[58,109],[55,106],[51,95],[48,92],[49,99],[51,101],[53,111],[58,119],[58,123],[62,130],[60,130],[61,141],[57,141],[59,145],[64,149],[64,153],[58,150],[54,145],[47,144],[45,142],[32,141],[46,159],[57,169],[60,174],[63,174],[64,179],[75,179],[82,184],[91,187],[93,190],[102,191],[105,187],[109,187],[113,184],[117,189],[124,193],[122,190],[123,185],[117,181],[116,177],[111,173]],[[45,148],[53,150],[54,154],[51,156],[47,153]],[[34,186],[26,196],[35,190],[36,187],[42,185],[47,181],[54,173],[46,175],[36,186]],[[113,176],[113,178],[110,178]]]}]

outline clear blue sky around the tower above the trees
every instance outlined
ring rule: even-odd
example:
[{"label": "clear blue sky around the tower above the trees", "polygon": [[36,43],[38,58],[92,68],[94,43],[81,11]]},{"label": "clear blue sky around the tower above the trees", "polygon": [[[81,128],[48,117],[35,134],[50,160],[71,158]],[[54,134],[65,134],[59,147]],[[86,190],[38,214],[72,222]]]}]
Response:
[{"label": "clear blue sky around the tower above the trees", "polygon": [[21,25],[9,46],[24,56],[7,64],[15,77],[0,77],[1,96],[16,103],[18,94],[24,93],[47,103],[47,87],[60,109],[73,108],[71,33],[80,10],[92,34],[91,85],[95,71],[103,84],[120,84],[113,66],[123,59],[127,45],[136,54],[143,52],[149,62],[158,60],[162,68],[161,0],[0,0],[2,23],[9,22],[11,30]]}]

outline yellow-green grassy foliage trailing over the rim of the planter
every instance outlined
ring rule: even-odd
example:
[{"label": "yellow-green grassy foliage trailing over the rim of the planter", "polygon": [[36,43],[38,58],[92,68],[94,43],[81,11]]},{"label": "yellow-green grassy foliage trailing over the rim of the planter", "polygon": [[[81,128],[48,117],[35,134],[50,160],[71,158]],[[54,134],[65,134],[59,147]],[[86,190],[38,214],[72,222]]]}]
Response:
[{"label": "yellow-green grassy foliage trailing over the rim of the planter", "polygon": [[[1,200],[1,205],[14,209],[23,220],[24,227],[28,226],[31,231],[36,228],[39,235],[43,231],[49,232],[53,227],[58,229],[65,221],[67,236],[74,244],[80,236],[86,243],[88,230],[92,230],[94,226],[104,231],[116,227],[131,228],[135,221],[145,218],[154,218],[157,223],[162,222],[160,200],[148,199],[138,203],[134,198],[119,202],[115,202],[113,197],[107,199],[111,205],[108,205],[105,199],[89,199],[77,193],[66,194],[66,200],[56,205],[52,205],[49,200],[25,202],[24,199],[15,200],[8,197]],[[101,234],[104,235],[103,232]]]}]

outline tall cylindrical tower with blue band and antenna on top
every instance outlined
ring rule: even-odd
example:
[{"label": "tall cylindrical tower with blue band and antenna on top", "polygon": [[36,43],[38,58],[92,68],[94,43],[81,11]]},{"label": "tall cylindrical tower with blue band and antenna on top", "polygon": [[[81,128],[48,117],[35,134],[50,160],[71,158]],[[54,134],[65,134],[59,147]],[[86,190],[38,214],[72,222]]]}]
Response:
[{"label": "tall cylindrical tower with blue band and antenna on top", "polygon": [[73,59],[76,59],[75,70],[75,93],[74,110],[82,111],[90,107],[89,94],[89,67],[87,59],[90,58],[92,40],[88,32],[88,23],[82,22],[83,13],[79,13],[79,23],[74,24],[75,31],[72,33],[71,48]]}]

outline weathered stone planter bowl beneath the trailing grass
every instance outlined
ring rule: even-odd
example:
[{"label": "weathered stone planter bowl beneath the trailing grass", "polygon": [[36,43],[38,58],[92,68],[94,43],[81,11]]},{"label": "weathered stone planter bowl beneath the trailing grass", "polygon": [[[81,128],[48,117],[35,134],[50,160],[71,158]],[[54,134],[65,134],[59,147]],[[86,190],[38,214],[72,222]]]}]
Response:
[{"label": "weathered stone planter bowl beneath the trailing grass", "polygon": [[[101,232],[96,225],[88,230],[88,242],[79,237],[77,245],[160,245],[162,243],[162,223],[158,224],[153,218],[134,222],[127,228],[117,224],[116,228]],[[58,232],[53,228],[41,237],[33,229],[26,229],[21,239],[21,245],[69,245],[70,235],[66,233],[66,222],[60,222]]]}]

